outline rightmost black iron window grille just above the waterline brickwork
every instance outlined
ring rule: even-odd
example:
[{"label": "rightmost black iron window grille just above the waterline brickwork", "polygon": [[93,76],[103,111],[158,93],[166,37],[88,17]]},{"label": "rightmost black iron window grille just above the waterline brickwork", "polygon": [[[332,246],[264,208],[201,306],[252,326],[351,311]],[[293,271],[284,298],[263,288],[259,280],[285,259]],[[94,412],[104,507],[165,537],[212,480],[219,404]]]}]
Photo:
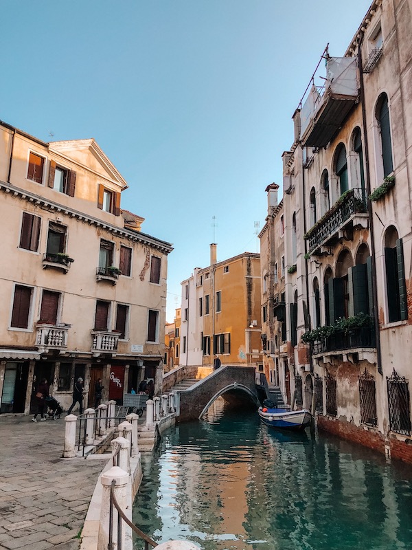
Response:
[{"label": "rightmost black iron window grille just above the waterline brickwork", "polygon": [[391,377],[387,376],[387,390],[390,430],[409,435],[411,433],[409,382],[393,369]]}]

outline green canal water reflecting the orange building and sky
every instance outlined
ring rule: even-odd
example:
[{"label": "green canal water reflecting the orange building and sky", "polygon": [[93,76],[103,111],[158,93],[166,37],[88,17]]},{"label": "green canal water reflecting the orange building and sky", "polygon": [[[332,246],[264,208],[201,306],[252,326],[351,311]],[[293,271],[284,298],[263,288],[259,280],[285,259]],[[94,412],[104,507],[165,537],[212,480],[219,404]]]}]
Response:
[{"label": "green canal water reflecting the orange building and sky", "polygon": [[[133,520],[203,550],[412,549],[412,467],[216,405],[144,457]],[[135,549],[142,549],[139,540]]]}]

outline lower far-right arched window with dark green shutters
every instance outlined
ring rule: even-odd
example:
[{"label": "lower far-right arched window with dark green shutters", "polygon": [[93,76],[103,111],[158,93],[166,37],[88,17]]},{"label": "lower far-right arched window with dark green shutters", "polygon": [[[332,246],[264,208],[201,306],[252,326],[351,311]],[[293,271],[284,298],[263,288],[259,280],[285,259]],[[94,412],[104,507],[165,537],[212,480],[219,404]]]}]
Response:
[{"label": "lower far-right arched window with dark green shutters", "polygon": [[385,271],[388,322],[408,318],[402,239],[390,225],[385,232]]}]

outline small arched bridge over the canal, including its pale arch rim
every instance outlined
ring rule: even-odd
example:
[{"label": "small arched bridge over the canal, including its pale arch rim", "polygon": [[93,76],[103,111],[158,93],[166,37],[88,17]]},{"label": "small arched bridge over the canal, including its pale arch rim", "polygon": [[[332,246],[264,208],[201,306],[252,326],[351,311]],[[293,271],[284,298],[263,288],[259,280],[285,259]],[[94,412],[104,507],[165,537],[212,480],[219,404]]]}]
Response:
[{"label": "small arched bridge over the canal, including its pale arch rim", "polygon": [[[179,391],[179,421],[202,417],[220,396],[230,403],[249,401],[258,407],[259,386],[256,386],[255,373],[255,369],[250,366],[221,366],[190,388]],[[263,387],[262,390],[264,391]]]}]

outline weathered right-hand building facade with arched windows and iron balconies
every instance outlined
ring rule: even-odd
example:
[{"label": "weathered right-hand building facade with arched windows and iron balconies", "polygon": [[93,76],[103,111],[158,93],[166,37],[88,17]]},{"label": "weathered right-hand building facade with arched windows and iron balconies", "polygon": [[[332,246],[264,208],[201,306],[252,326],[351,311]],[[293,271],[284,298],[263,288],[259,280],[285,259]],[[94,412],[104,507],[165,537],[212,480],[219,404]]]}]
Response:
[{"label": "weathered right-hand building facade with arched windows and iron balconies", "polygon": [[343,57],[323,53],[325,75],[312,76],[283,156],[286,265],[296,265],[286,274],[288,362],[297,394],[319,428],[406,461],[411,53],[412,2],[374,1]]}]

